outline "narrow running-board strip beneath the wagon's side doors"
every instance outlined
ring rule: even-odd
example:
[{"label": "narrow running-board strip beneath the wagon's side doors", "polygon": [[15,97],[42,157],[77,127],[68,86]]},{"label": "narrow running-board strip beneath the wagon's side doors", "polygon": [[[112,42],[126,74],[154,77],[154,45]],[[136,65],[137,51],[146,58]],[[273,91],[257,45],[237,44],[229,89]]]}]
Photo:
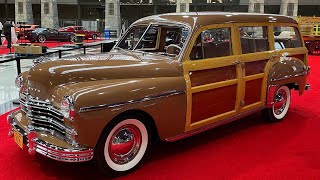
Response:
[{"label": "narrow running-board strip beneath the wagon's side doors", "polygon": [[227,118],[225,120],[222,120],[222,121],[218,121],[216,123],[213,123],[213,124],[210,124],[208,126],[204,126],[204,127],[200,127],[198,129],[195,129],[195,130],[192,130],[192,131],[189,131],[189,132],[185,132],[185,133],[182,133],[182,134],[179,134],[177,136],[174,136],[174,137],[170,137],[170,138],[166,138],[165,141],[167,142],[174,142],[174,141],[178,141],[180,139],[184,139],[184,138],[187,138],[187,137],[190,137],[190,136],[193,136],[195,134],[199,134],[201,132],[204,132],[204,131],[207,131],[209,129],[212,129],[212,128],[215,128],[215,127],[218,127],[218,126],[221,126],[221,125],[224,125],[224,124],[227,124],[227,123],[230,123],[232,121],[235,121],[235,120],[238,120],[238,119],[241,119],[249,114],[253,114],[253,113],[256,113],[258,111],[261,111],[263,110],[265,107],[260,107],[260,108],[256,108],[256,109],[253,109],[251,111],[248,111],[248,112],[244,112],[242,114],[238,114],[238,115],[235,115],[235,116],[232,116],[230,118]]}]

